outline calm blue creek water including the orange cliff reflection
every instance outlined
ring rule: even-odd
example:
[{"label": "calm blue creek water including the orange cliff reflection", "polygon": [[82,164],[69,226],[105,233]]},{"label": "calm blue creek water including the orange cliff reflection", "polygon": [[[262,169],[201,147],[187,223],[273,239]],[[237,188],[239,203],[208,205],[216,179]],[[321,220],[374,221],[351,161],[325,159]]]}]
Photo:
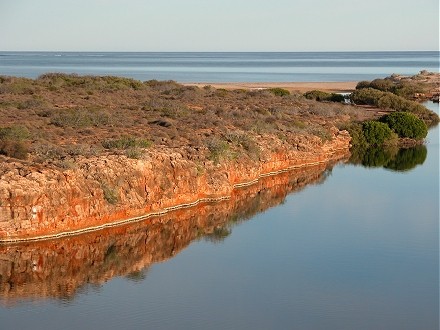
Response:
[{"label": "calm blue creek water including the orange cliff reflection", "polygon": [[1,327],[437,330],[438,127],[399,155],[289,179],[233,214],[0,247]]}]

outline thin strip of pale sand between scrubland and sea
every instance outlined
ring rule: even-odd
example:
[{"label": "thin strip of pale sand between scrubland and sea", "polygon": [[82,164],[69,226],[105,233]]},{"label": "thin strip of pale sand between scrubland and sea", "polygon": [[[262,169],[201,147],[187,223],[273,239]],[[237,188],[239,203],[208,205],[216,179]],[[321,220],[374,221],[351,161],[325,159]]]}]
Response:
[{"label": "thin strip of pale sand between scrubland and sea", "polygon": [[325,92],[351,92],[356,88],[357,81],[345,82],[240,82],[240,83],[183,83],[185,86],[203,87],[210,85],[215,88],[224,89],[264,89],[280,87],[290,92],[298,91],[301,93],[318,89]]}]

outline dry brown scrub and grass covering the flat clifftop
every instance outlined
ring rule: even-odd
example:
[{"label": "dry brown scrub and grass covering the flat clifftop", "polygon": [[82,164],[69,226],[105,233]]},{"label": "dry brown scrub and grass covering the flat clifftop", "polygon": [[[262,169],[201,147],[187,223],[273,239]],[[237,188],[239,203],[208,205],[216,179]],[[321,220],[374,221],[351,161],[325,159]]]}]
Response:
[{"label": "dry brown scrub and grass covering the flat clifftop", "polygon": [[[118,77],[0,77],[0,128],[29,132],[30,161],[65,167],[80,155],[122,150],[138,158],[143,150],[160,146],[189,147],[198,150],[197,157],[215,161],[238,154],[257,159],[262,135],[284,141],[298,134],[325,140],[327,124],[360,118],[360,110],[351,106],[275,94]],[[135,142],[119,148],[118,141]],[[116,147],[109,147],[112,143]],[[187,156],[195,157],[190,151]]]}]

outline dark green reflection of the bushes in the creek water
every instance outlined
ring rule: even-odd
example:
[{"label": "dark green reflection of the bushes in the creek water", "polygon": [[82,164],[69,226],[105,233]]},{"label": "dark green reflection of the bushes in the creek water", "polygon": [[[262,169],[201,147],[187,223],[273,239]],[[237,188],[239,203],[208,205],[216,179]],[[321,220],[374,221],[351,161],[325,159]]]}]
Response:
[{"label": "dark green reflection of the bushes in the creek water", "polygon": [[428,150],[424,145],[412,148],[352,148],[350,163],[365,167],[383,167],[393,171],[409,171],[422,165]]}]

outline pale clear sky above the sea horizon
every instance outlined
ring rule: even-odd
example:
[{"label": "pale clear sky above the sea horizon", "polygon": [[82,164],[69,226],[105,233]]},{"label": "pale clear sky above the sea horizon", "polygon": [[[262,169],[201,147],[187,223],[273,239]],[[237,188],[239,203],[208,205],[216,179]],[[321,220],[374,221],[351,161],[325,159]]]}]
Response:
[{"label": "pale clear sky above the sea horizon", "polygon": [[438,49],[438,0],[0,0],[0,51]]}]

